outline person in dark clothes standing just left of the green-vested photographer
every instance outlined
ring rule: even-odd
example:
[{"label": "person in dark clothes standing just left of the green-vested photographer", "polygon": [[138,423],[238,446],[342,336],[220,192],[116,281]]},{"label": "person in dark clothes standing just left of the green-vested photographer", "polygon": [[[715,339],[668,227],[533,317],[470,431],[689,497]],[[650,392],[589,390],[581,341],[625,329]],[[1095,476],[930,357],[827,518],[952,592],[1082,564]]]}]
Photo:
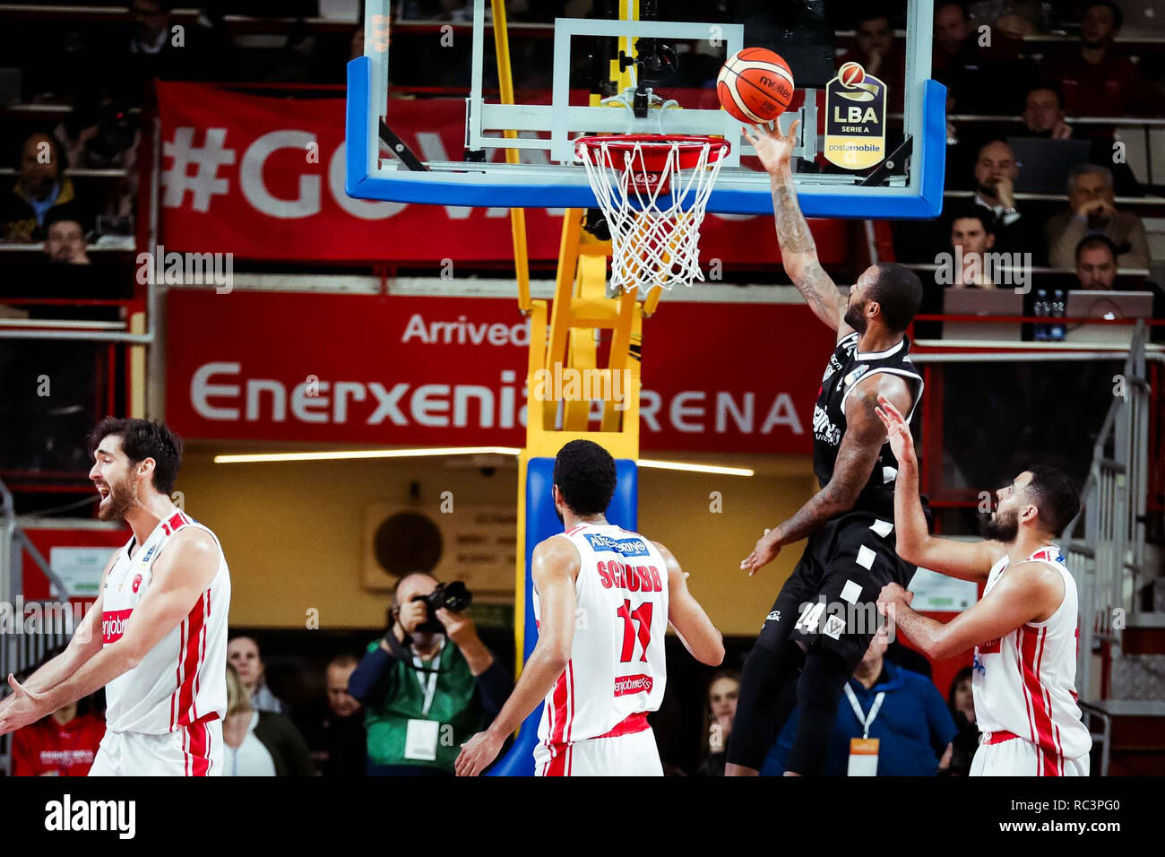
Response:
[{"label": "person in dark clothes standing just left of the green-vested photographer", "polygon": [[348,693],[348,680],[360,660],[351,654],[333,658],[324,670],[327,698],[298,719],[311,747],[312,759],[324,777],[363,777],[368,752],[363,708]]}]

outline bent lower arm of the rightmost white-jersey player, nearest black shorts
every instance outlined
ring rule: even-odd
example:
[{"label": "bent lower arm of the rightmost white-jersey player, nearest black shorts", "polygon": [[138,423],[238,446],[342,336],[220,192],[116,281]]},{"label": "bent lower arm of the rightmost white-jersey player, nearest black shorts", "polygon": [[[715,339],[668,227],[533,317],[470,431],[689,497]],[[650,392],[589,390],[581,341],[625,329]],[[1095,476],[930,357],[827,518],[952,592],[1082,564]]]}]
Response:
[{"label": "bent lower arm of the rightmost white-jersey player, nearest black shorts", "polygon": [[944,660],[1029,621],[1048,619],[1064,600],[1064,579],[1046,563],[1017,563],[974,606],[946,624],[916,613],[910,606],[912,598],[913,593],[889,583],[878,596],[878,612],[892,619],[930,658]]}]

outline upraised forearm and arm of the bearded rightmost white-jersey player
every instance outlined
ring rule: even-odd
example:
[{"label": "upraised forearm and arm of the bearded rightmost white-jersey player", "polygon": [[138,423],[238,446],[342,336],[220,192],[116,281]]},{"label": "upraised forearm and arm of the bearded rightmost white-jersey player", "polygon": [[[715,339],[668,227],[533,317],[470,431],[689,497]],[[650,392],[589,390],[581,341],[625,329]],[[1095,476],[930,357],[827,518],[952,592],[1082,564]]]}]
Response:
[{"label": "upraised forearm and arm of the bearded rightmost white-jersey player", "polygon": [[896,549],[906,562],[948,577],[986,581],[1004,548],[997,541],[960,542],[935,539],[926,527],[923,503],[918,496],[918,457],[915,438],[902,412],[885,396],[878,396],[877,415],[885,426],[890,449],[898,459],[898,477],[894,487],[894,526]]}]

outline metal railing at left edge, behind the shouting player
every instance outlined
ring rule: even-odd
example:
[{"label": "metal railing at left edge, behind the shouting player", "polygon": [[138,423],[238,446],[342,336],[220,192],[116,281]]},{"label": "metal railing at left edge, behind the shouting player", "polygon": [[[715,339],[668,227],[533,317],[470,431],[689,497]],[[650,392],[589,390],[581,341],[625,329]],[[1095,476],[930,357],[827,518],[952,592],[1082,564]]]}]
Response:
[{"label": "metal railing at left edge, behind the shouting player", "polygon": [[[12,492],[0,480],[0,611],[8,617],[0,621],[0,673],[3,677],[0,698],[9,693],[9,674],[23,673],[52,649],[66,645],[75,628],[72,610],[61,609],[51,602],[24,602],[24,552],[68,603],[64,595],[68,588],[21,529]],[[10,772],[12,736],[6,735],[0,737],[0,773],[8,775]]]}]

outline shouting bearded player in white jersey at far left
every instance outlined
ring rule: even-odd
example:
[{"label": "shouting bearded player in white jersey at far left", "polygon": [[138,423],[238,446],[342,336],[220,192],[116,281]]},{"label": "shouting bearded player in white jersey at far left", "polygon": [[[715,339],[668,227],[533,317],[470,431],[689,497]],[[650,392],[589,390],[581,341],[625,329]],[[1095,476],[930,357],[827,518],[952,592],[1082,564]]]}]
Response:
[{"label": "shouting bearded player in white jersey at far left", "polygon": [[0,735],[105,688],[91,777],[219,775],[231,575],[218,539],[170,501],[182,440],[146,420],[90,435],[98,517],[133,538],[101,575],[69,646],[0,703]]}]

